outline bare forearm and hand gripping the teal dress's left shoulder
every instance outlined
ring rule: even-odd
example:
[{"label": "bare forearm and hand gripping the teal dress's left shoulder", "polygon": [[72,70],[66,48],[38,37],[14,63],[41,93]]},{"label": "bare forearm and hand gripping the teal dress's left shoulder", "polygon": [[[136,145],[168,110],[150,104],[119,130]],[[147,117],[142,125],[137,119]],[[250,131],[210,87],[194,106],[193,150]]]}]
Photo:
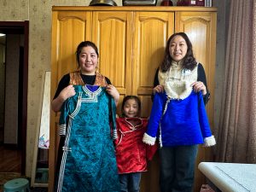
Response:
[{"label": "bare forearm and hand gripping the teal dress's left shoulder", "polygon": [[63,102],[65,102],[69,97],[74,96],[76,94],[73,84],[69,84],[67,87],[65,87],[63,90],[61,90],[61,93],[59,96],[57,96],[52,102],[51,102],[51,108],[55,112],[59,112],[61,110],[61,106]]}]

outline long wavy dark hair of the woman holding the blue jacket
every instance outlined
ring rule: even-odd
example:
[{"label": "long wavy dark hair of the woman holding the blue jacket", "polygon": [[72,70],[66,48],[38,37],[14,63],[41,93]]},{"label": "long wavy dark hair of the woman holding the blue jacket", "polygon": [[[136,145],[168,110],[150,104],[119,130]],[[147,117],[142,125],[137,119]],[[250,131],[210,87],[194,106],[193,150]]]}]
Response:
[{"label": "long wavy dark hair of the woman holding the blue jacket", "polygon": [[166,43],[164,61],[162,61],[162,63],[160,64],[160,70],[162,72],[168,71],[168,69],[172,66],[172,57],[170,55],[169,46],[172,41],[172,38],[175,38],[176,36],[181,36],[186,41],[186,44],[188,46],[187,54],[183,58],[183,68],[192,70],[195,68],[197,64],[197,62],[195,61],[195,57],[193,55],[192,44],[189,40],[189,37],[184,32],[177,32],[172,34],[172,36],[168,39]]}]

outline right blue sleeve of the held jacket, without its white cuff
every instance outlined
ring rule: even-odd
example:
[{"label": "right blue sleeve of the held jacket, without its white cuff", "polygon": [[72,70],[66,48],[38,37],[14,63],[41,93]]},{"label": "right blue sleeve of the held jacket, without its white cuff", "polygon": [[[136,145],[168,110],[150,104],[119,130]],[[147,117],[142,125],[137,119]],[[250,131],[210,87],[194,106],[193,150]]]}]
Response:
[{"label": "right blue sleeve of the held jacket, without its white cuff", "polygon": [[204,105],[204,100],[201,91],[198,93],[198,114],[202,137],[211,137],[212,131],[209,125],[207,110]]}]

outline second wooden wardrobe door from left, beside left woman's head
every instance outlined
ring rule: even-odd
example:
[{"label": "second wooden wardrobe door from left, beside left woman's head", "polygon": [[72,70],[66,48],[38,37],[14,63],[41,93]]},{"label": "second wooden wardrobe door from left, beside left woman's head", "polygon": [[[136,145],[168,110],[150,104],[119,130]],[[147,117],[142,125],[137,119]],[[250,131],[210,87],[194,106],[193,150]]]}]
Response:
[{"label": "second wooden wardrobe door from left, beside left woman's head", "polygon": [[[93,14],[92,40],[99,52],[99,71],[119,90],[122,102],[131,94],[132,12],[96,11]],[[121,103],[117,109],[121,114]]]}]

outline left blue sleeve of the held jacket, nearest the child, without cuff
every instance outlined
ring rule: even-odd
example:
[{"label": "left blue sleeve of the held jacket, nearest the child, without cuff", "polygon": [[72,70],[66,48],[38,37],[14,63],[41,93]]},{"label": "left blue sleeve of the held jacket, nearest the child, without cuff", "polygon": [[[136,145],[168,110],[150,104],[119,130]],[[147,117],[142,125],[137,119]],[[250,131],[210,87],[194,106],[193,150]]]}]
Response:
[{"label": "left blue sleeve of the held jacket, nearest the child, without cuff", "polygon": [[162,117],[163,109],[166,103],[166,93],[155,93],[154,102],[148,120],[147,134],[150,137],[156,137]]}]

